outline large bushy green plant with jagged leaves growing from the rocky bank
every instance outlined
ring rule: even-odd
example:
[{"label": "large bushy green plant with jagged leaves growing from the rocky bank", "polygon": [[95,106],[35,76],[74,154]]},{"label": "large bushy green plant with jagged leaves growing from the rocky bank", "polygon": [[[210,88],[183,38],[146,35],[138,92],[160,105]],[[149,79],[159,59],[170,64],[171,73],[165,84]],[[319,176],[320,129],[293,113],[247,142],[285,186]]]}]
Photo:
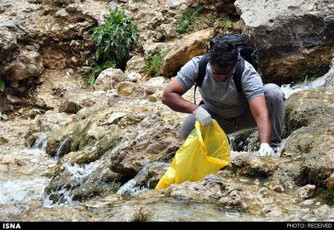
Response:
[{"label": "large bushy green plant with jagged leaves growing from the rocky bank", "polygon": [[137,43],[138,28],[134,18],[116,9],[110,13],[103,26],[92,28],[92,37],[96,42],[97,61],[114,60],[121,65],[124,57]]}]

